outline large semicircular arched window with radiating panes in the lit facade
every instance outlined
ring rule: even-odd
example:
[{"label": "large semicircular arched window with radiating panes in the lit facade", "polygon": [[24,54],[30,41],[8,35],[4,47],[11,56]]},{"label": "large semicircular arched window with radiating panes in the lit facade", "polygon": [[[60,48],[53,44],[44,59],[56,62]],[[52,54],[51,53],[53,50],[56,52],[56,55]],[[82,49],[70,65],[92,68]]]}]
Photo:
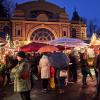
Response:
[{"label": "large semicircular arched window with radiating panes in the lit facade", "polygon": [[47,42],[53,39],[54,39],[54,35],[51,33],[51,31],[45,28],[37,29],[36,31],[33,32],[30,38],[30,40],[42,41],[42,42]]}]

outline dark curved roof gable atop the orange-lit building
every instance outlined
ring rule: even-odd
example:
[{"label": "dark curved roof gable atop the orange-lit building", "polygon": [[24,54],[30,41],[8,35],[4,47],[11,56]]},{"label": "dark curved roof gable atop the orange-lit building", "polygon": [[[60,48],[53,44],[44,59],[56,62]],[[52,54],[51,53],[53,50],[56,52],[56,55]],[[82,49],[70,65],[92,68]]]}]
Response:
[{"label": "dark curved roof gable atop the orange-lit building", "polygon": [[38,1],[29,1],[22,4],[16,4],[14,17],[16,16],[23,16],[23,17],[30,17],[31,13],[36,15],[38,13],[47,13],[48,15],[52,15],[52,18],[55,19],[66,19],[68,20],[68,15],[65,11],[65,8],[61,8],[55,4],[47,2],[45,0],[38,0]]}]

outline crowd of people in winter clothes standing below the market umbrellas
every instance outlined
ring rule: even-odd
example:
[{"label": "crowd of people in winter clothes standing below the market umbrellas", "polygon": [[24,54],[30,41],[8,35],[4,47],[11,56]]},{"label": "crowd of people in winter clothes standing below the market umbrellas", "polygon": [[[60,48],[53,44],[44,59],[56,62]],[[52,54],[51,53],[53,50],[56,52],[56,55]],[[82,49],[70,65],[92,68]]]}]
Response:
[{"label": "crowd of people in winter clothes standing below the market umbrellas", "polygon": [[[72,51],[65,55],[62,52],[53,53],[32,53],[26,54],[19,51],[16,55],[6,55],[2,63],[4,70],[3,78],[7,77],[7,84],[14,81],[14,91],[18,92],[22,100],[31,100],[30,92],[34,85],[34,77],[40,76],[42,80],[42,92],[56,90],[57,93],[64,93],[66,82],[76,83],[78,80],[78,69],[82,73],[82,87],[87,88],[87,76],[93,80],[91,70],[88,64],[87,50],[79,55]],[[100,50],[94,58],[94,70],[96,73],[96,96],[100,93]],[[0,83],[0,86],[2,84]]]}]

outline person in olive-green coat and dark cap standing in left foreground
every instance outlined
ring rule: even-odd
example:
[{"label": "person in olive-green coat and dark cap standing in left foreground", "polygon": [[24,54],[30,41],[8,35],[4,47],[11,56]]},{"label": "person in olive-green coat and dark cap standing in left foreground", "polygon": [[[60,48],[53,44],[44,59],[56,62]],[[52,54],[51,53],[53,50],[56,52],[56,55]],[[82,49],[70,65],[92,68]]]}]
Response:
[{"label": "person in olive-green coat and dark cap standing in left foreground", "polygon": [[11,71],[14,75],[14,92],[20,94],[22,100],[31,100],[30,98],[30,64],[25,60],[25,53],[17,53],[18,64]]}]

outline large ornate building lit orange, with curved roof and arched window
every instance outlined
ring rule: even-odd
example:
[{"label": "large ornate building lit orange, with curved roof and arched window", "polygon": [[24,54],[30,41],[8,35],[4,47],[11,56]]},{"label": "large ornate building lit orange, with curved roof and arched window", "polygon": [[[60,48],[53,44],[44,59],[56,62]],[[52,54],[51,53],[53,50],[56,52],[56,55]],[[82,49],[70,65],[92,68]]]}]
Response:
[{"label": "large ornate building lit orange, with curved roof and arched window", "polygon": [[[6,28],[5,28],[6,27]],[[60,37],[86,39],[86,24],[76,10],[72,20],[64,8],[45,0],[16,4],[10,20],[0,21],[0,32],[8,32],[14,42],[48,42]]]}]

